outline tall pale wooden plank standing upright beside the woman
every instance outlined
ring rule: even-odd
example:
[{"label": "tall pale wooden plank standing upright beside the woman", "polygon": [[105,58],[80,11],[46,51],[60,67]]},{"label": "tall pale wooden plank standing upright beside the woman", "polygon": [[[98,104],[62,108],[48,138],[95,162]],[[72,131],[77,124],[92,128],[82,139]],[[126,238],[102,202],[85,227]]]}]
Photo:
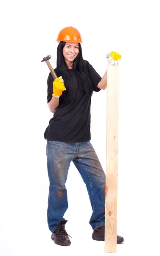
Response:
[{"label": "tall pale wooden plank standing upright beside the woman", "polygon": [[119,64],[107,68],[105,253],[117,251]]}]

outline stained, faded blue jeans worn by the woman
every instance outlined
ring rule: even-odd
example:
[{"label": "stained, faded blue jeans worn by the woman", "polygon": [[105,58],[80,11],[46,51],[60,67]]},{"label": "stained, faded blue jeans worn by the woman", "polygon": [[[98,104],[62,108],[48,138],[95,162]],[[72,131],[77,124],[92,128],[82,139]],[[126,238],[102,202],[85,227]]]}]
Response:
[{"label": "stained, faded blue jeans worn by the woman", "polygon": [[90,225],[94,229],[105,224],[105,182],[101,163],[90,141],[66,143],[47,140],[47,167],[49,177],[48,227],[54,232],[58,221],[65,221],[63,215],[68,208],[67,180],[70,162],[73,161],[87,186],[93,209]]}]

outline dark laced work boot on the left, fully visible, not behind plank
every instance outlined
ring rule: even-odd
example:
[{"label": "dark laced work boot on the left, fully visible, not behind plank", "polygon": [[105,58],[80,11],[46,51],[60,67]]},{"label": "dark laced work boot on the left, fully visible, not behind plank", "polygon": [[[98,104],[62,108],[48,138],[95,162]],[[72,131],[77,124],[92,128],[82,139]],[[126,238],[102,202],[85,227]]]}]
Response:
[{"label": "dark laced work boot on the left, fully visible, not behind plank", "polygon": [[[54,240],[55,244],[59,244],[59,245],[70,245],[70,239],[65,230],[65,224],[67,223],[67,221],[58,221],[57,222],[57,229],[56,231],[54,231],[51,235],[51,239]],[[71,236],[70,236],[71,237]]]}]

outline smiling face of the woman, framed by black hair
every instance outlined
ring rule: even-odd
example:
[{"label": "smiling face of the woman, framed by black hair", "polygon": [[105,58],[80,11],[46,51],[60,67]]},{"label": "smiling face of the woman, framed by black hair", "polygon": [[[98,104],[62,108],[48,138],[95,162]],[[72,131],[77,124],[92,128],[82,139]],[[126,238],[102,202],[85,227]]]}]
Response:
[{"label": "smiling face of the woman, framed by black hair", "polygon": [[79,44],[66,42],[63,47],[63,56],[65,57],[65,62],[67,66],[70,68],[73,65],[74,59],[79,54]]}]

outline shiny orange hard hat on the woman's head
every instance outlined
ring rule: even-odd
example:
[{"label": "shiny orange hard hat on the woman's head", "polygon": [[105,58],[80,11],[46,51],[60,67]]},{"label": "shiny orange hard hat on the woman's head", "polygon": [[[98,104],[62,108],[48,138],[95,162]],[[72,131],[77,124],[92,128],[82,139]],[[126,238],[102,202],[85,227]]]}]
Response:
[{"label": "shiny orange hard hat on the woman's head", "polygon": [[65,27],[62,29],[56,41],[64,41],[64,42],[73,42],[73,43],[82,43],[81,34],[76,28],[73,27]]}]

